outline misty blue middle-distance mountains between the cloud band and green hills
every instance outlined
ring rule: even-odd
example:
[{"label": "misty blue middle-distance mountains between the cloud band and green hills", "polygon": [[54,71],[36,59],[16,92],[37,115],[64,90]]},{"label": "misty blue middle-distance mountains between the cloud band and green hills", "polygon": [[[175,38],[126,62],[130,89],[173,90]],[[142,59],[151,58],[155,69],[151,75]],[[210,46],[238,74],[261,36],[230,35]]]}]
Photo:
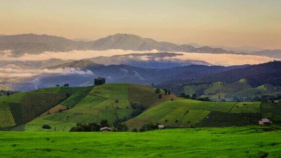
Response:
[{"label": "misty blue middle-distance mountains between the cloud band and green hills", "polygon": [[[79,71],[91,72],[83,74],[43,74],[25,80],[13,81],[14,90],[31,90],[39,87],[50,87],[54,84],[68,83],[71,86],[85,86],[93,84],[93,80],[104,77],[107,82],[129,82],[139,84],[158,84],[168,79],[198,79],[205,74],[219,73],[242,66],[206,66],[189,65],[166,69],[140,68],[129,65],[103,65],[88,59],[77,60],[47,67],[49,70],[73,68]],[[8,84],[7,81],[5,84]]]}]

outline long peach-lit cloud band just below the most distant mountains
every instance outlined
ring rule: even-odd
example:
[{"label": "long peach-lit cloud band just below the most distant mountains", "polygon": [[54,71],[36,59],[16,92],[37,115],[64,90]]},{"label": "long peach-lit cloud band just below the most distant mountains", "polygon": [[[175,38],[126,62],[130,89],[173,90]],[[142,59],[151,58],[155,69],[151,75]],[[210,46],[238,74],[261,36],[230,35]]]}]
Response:
[{"label": "long peach-lit cloud band just below the most distant mountains", "polygon": [[[57,59],[86,59],[94,57],[110,57],[114,55],[125,55],[131,53],[157,53],[157,50],[152,51],[124,51],[124,50],[106,50],[106,51],[70,51],[70,52],[44,52],[38,55],[24,54],[21,57],[14,58],[10,56],[10,51],[4,51],[5,54],[0,57],[0,60],[10,60],[10,61],[27,61],[27,60],[46,60],[51,58]],[[236,54],[210,54],[210,53],[185,53],[176,52],[184,54],[183,56],[167,57],[166,60],[203,60],[214,65],[242,65],[242,64],[258,64],[267,61],[274,60],[274,58],[254,56],[254,55],[236,55]],[[140,60],[148,60],[148,57],[142,56],[138,57]]]}]

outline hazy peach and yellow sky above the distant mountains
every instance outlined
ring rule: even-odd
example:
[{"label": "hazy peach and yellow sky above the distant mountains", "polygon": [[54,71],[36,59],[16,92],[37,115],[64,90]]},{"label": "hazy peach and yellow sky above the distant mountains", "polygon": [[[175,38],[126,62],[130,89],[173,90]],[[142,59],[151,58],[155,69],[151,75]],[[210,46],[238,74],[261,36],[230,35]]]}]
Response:
[{"label": "hazy peach and yellow sky above the distant mountains", "polygon": [[0,34],[281,49],[281,0],[0,0]]}]

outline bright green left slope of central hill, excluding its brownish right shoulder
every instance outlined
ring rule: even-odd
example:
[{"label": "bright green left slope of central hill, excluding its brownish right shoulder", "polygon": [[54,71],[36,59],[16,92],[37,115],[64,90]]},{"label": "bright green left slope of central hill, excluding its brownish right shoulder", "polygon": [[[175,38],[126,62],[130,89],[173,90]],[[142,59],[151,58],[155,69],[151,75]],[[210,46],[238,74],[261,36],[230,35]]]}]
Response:
[{"label": "bright green left slope of central hill, excluding its brownish right shoulder", "polygon": [[[99,122],[101,119],[107,119],[110,123],[114,123],[117,118],[128,117],[133,112],[128,99],[126,99],[127,96],[128,85],[97,86],[74,108],[41,119],[45,120],[46,122],[42,122],[46,124],[49,124],[48,121],[50,121],[50,124],[54,126],[52,130],[56,129],[56,131],[69,130],[76,123]],[[39,122],[41,126],[42,122]],[[25,126],[25,130],[33,131],[33,125],[38,125],[38,121],[29,122]]]}]

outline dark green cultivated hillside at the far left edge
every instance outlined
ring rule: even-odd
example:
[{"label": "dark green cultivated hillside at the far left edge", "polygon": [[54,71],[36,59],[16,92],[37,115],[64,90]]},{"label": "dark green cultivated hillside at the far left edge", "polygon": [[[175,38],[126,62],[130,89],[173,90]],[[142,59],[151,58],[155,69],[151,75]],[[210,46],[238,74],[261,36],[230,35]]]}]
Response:
[{"label": "dark green cultivated hillside at the far left edge", "polygon": [[27,123],[59,103],[68,106],[67,100],[79,101],[75,95],[85,89],[88,87],[54,87],[0,97],[0,129],[9,130]]}]

